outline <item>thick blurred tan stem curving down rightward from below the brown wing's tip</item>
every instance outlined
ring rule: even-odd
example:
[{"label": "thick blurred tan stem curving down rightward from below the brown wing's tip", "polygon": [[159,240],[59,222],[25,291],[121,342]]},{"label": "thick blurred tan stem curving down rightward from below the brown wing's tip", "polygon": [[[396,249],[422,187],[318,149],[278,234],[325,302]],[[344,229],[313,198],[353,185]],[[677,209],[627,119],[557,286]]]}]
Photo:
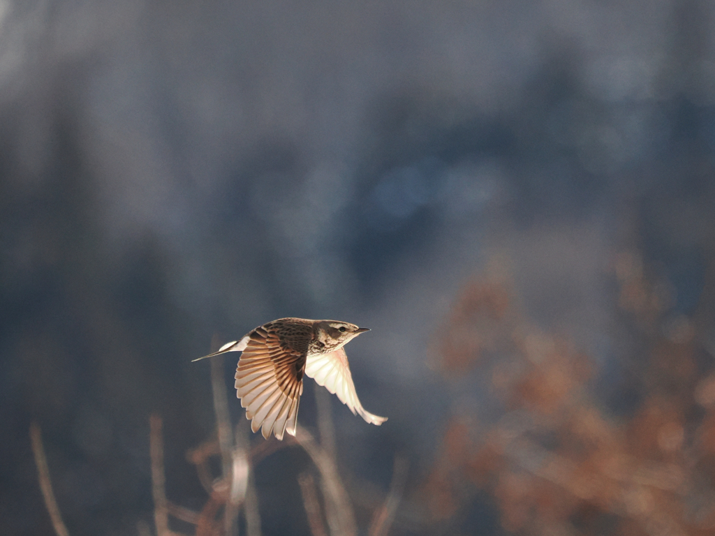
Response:
[{"label": "thick blurred tan stem curving down rightward from below the brown wing's tip", "polygon": [[310,432],[298,426],[295,440],[312,458],[320,471],[322,491],[325,497],[325,517],[330,527],[330,534],[335,536],[354,536],[357,532],[355,514],[352,512],[350,497],[340,480],[340,474],[333,460],[313,440]]}]

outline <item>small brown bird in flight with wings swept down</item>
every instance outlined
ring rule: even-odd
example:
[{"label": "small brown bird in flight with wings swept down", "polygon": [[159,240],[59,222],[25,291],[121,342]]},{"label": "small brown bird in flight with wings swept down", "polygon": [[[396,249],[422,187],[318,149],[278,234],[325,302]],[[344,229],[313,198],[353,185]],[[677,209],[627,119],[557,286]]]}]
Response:
[{"label": "small brown bird in flight with wings swept down", "polygon": [[251,420],[251,430],[260,429],[265,439],[271,432],[278,440],[284,432],[295,436],[304,375],[336,394],[352,415],[380,426],[388,418],[373,415],[360,404],[343,348],[368,331],[337,320],[280,318],[193,361],[242,352],[235,374],[236,396]]}]

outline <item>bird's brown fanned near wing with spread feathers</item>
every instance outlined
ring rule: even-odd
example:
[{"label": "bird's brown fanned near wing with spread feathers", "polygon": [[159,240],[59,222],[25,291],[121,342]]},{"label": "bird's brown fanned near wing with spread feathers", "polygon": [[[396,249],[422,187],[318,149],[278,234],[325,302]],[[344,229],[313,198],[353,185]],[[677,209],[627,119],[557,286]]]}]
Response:
[{"label": "bird's brown fanned near wing with spread feathers", "polygon": [[251,430],[261,428],[266,439],[271,431],[279,440],[283,432],[295,435],[305,352],[280,344],[278,335],[266,327],[257,327],[246,338],[235,378],[236,394],[252,421]]}]

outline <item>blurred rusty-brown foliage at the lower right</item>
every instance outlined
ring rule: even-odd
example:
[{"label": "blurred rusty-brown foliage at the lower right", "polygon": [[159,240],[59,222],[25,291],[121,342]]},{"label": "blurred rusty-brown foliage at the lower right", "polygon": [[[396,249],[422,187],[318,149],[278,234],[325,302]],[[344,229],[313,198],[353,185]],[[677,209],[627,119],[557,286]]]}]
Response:
[{"label": "blurred rusty-brown foliage at the lower right", "polygon": [[593,359],[536,329],[506,282],[465,289],[440,332],[440,370],[448,382],[490,377],[506,411],[448,421],[422,488],[435,522],[483,490],[516,534],[715,531],[715,374],[699,377],[696,323],[666,322],[666,287],[638,254],[619,255],[614,272],[616,314],[646,348],[633,359],[638,405],[618,417],[593,389]]}]

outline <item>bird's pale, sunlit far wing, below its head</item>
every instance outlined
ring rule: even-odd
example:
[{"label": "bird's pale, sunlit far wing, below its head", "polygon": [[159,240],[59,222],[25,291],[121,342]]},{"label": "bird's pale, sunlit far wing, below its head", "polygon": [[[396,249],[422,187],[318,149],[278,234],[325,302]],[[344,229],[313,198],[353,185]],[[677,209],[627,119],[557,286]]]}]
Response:
[{"label": "bird's pale, sunlit far wing, below its head", "polygon": [[365,411],[360,404],[358,393],[355,392],[355,384],[352,383],[350,366],[347,364],[345,349],[337,349],[335,352],[310,356],[305,363],[305,374],[315,379],[318,385],[323,385],[332,394],[337,394],[340,402],[350,408],[352,414],[357,413],[367,422],[373,425],[382,425],[388,417],[378,417]]}]

